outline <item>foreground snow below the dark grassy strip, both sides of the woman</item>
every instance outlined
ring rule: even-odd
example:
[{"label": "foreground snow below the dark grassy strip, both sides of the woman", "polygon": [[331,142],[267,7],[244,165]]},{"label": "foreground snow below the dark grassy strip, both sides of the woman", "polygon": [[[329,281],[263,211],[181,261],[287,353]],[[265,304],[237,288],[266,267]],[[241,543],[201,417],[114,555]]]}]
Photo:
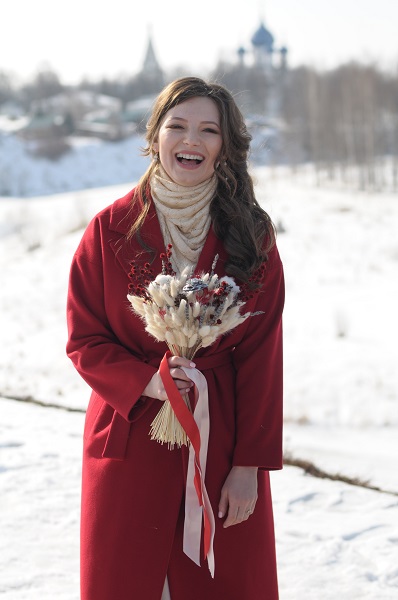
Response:
[{"label": "foreground snow below the dark grassy strip, both sides of the woman", "polygon": [[[0,597],[78,600],[83,418],[2,400]],[[272,482],[281,600],[397,597],[397,497],[294,467]]]}]

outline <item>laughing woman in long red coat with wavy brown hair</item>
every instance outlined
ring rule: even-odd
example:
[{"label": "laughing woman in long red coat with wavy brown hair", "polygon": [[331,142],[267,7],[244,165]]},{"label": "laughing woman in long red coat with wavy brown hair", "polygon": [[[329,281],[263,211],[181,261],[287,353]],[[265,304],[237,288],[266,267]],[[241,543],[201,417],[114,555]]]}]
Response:
[{"label": "laughing woman in long red coat with wavy brown hair", "polygon": [[[268,215],[247,170],[250,136],[231,94],[181,78],[147,126],[152,162],[136,189],[100,212],[75,253],[67,352],[92,388],[84,430],[82,600],[278,598],[269,473],[282,468],[284,282]],[[131,261],[234,277],[248,318],[194,358],[209,390],[206,488],[216,515],[215,576],[183,551],[188,448],[149,436],[166,393],[167,350],[126,299]],[[265,266],[265,269],[264,269]],[[168,359],[179,392],[192,381]]]}]

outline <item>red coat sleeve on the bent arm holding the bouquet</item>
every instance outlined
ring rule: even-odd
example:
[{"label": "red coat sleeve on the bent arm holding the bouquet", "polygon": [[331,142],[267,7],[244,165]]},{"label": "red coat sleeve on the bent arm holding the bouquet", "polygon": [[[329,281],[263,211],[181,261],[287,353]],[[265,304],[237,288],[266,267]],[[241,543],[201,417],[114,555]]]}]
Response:
[{"label": "red coat sleeve on the bent arm holding the bouquet", "polygon": [[104,244],[96,219],[88,226],[74,255],[67,298],[66,351],[75,368],[105,402],[126,420],[156,368],[125,348],[113,332],[105,309]]}]

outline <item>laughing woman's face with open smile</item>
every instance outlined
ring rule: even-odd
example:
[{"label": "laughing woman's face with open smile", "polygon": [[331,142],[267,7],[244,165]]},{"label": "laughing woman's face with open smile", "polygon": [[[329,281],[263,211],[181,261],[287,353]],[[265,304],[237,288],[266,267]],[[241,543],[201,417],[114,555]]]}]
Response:
[{"label": "laughing woman's face with open smile", "polygon": [[218,108],[213,100],[202,97],[171,108],[153,143],[168,176],[184,186],[198,185],[212,176],[221,147]]}]

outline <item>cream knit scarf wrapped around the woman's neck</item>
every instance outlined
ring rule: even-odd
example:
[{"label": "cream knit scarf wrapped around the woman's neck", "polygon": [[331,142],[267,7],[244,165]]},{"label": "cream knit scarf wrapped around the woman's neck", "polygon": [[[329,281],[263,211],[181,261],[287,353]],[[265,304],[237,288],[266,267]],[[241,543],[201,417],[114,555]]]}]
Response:
[{"label": "cream knit scarf wrapped around the woman's neck", "polygon": [[171,263],[177,274],[196,266],[210,229],[210,202],[217,187],[214,174],[199,185],[183,186],[170,181],[161,165],[150,180],[165,246],[172,244]]}]

